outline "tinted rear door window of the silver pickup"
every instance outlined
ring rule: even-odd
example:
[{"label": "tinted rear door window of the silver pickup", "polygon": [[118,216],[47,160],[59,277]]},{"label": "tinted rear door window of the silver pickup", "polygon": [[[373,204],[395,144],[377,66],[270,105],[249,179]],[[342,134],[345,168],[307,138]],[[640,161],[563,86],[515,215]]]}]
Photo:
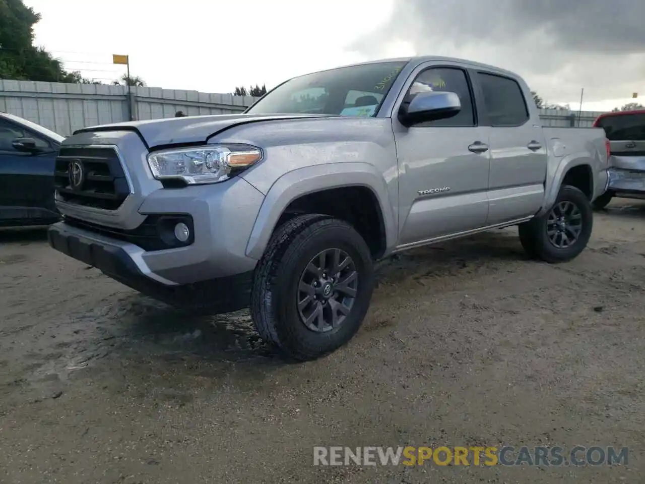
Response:
[{"label": "tinted rear door window of the silver pickup", "polygon": [[491,126],[521,126],[529,120],[524,93],[515,79],[477,72],[477,81]]}]

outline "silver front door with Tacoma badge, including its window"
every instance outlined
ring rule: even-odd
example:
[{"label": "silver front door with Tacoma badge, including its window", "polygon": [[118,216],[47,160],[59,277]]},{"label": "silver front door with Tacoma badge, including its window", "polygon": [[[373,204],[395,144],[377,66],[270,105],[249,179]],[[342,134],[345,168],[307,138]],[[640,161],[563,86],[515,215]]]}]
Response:
[{"label": "silver front door with Tacoma badge, including its window", "polygon": [[477,126],[468,74],[422,70],[404,102],[423,90],[455,92],[461,112],[406,128],[392,118],[399,159],[399,247],[481,228],[488,216],[488,126]]}]

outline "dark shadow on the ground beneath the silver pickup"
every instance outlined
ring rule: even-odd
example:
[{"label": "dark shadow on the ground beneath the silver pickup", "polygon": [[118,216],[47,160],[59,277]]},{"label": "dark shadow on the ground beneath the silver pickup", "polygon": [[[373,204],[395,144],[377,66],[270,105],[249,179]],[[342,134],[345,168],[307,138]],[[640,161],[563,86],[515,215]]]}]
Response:
[{"label": "dark shadow on the ground beneath the silver pickup", "polygon": [[[522,261],[526,256],[513,235],[501,230],[486,232],[398,254],[379,263],[377,281],[395,284],[430,273],[433,277],[450,277],[455,271],[471,272],[475,264]],[[113,304],[105,316],[112,321],[109,330],[121,341],[121,355],[126,358],[142,354],[161,360],[199,358],[208,363],[235,363],[238,369],[244,365],[275,368],[296,363],[283,358],[260,338],[248,310],[200,316],[136,293]]]}]

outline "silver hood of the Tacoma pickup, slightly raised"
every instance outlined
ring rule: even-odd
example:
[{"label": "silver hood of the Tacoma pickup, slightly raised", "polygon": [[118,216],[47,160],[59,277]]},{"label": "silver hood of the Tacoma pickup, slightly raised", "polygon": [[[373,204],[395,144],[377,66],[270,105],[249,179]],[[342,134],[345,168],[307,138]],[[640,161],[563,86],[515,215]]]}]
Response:
[{"label": "silver hood of the Tacoma pickup, slightly raised", "polygon": [[131,121],[111,125],[89,126],[74,134],[97,131],[135,131],[143,138],[148,148],[179,143],[205,143],[209,137],[235,125],[258,121],[281,121],[330,117],[319,114],[216,114],[212,116],[186,116],[148,121]]}]

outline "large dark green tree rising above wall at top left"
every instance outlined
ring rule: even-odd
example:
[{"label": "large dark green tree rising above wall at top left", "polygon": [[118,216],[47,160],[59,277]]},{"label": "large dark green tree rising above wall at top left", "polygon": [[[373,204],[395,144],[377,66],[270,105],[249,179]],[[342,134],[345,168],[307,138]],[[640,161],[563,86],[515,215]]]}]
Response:
[{"label": "large dark green tree rising above wall at top left", "polygon": [[0,78],[75,82],[61,61],[33,45],[34,25],[40,18],[23,0],[0,0]]}]

